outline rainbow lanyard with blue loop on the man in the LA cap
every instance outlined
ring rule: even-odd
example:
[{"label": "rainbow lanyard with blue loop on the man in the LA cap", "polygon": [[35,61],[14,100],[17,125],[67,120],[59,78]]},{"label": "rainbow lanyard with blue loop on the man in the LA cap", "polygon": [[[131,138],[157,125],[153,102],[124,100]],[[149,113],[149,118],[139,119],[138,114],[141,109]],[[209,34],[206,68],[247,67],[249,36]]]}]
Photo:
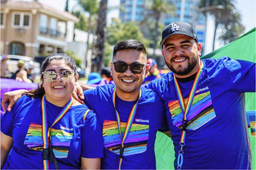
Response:
[{"label": "rainbow lanyard with blue loop on the man in the LA cap", "polygon": [[184,145],[185,145],[185,138],[186,138],[186,133],[187,133],[187,125],[188,125],[187,114],[188,114],[189,109],[192,105],[193,98],[195,96],[195,91],[196,91],[199,79],[203,74],[203,67],[204,67],[204,65],[201,61],[198,72],[197,72],[196,77],[195,77],[195,80],[193,82],[193,86],[192,86],[191,91],[190,91],[189,96],[188,96],[188,101],[187,101],[186,107],[185,107],[184,99],[183,99],[183,96],[182,96],[177,78],[175,77],[175,75],[173,76],[174,85],[175,85],[176,91],[177,91],[178,101],[180,103],[180,108],[181,108],[182,112],[184,113],[184,117],[183,117],[183,120],[182,120],[182,131],[181,131],[181,137],[180,137],[181,149],[179,151],[178,161],[177,161],[178,162],[178,169],[181,169],[181,165],[183,163]]}]

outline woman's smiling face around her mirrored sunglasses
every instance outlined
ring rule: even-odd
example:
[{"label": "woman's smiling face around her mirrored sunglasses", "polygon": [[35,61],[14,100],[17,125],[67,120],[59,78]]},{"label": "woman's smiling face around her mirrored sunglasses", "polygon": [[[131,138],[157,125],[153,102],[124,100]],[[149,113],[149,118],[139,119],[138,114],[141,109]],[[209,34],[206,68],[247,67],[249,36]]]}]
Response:
[{"label": "woman's smiling face around her mirrored sunglasses", "polygon": [[[65,70],[72,70],[64,60],[52,60],[45,68],[46,71],[54,71],[60,73]],[[72,73],[74,74],[74,73]],[[57,101],[68,101],[72,96],[72,92],[75,88],[78,74],[74,75],[71,81],[65,82],[58,74],[53,82],[47,82],[45,77],[43,79],[43,87],[45,89],[45,97],[50,103],[56,103]]]}]

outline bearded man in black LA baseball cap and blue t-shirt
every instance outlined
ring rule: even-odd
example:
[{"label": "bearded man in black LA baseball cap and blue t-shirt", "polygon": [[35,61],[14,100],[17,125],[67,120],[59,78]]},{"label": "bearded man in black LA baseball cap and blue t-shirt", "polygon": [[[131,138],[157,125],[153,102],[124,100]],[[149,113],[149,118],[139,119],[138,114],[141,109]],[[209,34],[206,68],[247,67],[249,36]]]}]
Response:
[{"label": "bearded man in black LA baseball cap and blue t-shirt", "polygon": [[255,63],[200,60],[194,28],[180,21],[163,30],[161,45],[172,72],[146,86],[165,102],[174,168],[251,169],[244,93],[255,92]]}]

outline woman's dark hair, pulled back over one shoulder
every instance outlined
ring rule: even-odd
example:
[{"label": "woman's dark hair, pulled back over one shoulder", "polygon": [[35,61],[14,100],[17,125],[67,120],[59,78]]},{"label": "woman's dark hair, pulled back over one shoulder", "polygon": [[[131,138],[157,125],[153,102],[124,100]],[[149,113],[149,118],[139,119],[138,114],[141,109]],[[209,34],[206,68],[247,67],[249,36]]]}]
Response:
[{"label": "woman's dark hair, pulled back over one shoulder", "polygon": [[[67,54],[60,54],[60,53],[55,53],[55,54],[49,55],[44,60],[44,62],[42,63],[42,66],[41,66],[41,73],[44,72],[45,68],[50,64],[50,62],[52,60],[64,60],[67,63],[67,65],[75,72],[75,75],[77,74],[76,63],[75,63],[74,59],[72,59],[72,57]],[[76,78],[76,76],[75,76],[75,78]],[[41,78],[38,81],[37,89],[30,90],[27,93],[27,96],[31,96],[32,98],[44,96],[45,89],[43,87],[42,80],[43,80],[43,74],[41,74]]]}]

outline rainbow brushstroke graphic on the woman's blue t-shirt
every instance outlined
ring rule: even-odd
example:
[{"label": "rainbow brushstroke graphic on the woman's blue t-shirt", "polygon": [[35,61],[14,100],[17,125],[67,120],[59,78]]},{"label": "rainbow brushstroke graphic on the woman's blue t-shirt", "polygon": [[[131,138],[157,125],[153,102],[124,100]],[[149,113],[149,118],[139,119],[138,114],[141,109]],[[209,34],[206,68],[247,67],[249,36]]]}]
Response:
[{"label": "rainbow brushstroke graphic on the woman's blue t-shirt", "polygon": [[[67,158],[73,133],[51,128],[53,152],[56,158]],[[24,144],[33,150],[42,151],[42,125],[30,123]]]}]

